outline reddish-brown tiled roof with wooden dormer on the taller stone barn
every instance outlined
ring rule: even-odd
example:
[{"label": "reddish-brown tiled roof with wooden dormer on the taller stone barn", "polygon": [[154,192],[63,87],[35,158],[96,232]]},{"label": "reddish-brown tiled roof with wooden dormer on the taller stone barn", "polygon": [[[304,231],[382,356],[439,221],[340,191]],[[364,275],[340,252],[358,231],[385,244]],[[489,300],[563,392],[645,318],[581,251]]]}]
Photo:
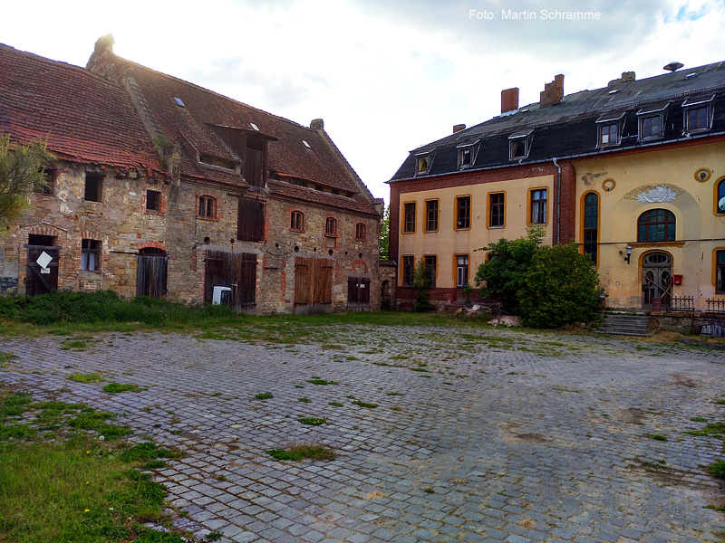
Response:
[{"label": "reddish-brown tiled roof with wooden dormer on the taller stone barn", "polygon": [[[98,52],[94,53],[96,55]],[[335,149],[316,130],[257,110],[188,81],[126,61],[112,52],[102,52],[101,56],[92,57],[89,67],[93,65],[92,69],[96,70],[100,64],[113,66],[113,70],[127,74],[136,81],[160,132],[172,143],[181,146],[182,175],[238,185],[240,176],[225,173],[220,168],[205,167],[198,163],[197,155],[208,154],[238,162],[233,151],[211,127],[233,127],[256,132],[252,126],[254,124],[260,135],[270,139],[267,155],[269,172],[360,194],[353,176],[339,157],[335,156]],[[180,99],[184,106],[179,106],[175,98]],[[272,189],[271,186],[269,188]],[[314,195],[312,201],[319,201],[321,197],[309,191],[295,191],[295,195],[304,199]],[[375,213],[365,198],[357,207],[361,210],[364,208],[367,213]]]}]

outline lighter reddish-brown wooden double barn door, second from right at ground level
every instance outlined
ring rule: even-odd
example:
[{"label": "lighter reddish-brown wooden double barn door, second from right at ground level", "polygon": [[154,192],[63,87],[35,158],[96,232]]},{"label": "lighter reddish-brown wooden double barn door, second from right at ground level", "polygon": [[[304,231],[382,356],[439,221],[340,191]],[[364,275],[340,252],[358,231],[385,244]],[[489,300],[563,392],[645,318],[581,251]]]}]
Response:
[{"label": "lighter reddish-brown wooden double barn door, second from right at ground level", "polygon": [[329,313],[333,309],[333,261],[295,259],[295,314]]}]

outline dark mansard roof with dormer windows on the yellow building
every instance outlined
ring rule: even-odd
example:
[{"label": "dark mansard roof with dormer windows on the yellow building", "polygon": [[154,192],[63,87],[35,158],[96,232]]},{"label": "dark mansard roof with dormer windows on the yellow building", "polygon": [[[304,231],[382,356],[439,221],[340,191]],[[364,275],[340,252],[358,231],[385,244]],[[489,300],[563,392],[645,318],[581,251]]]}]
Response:
[{"label": "dark mansard roof with dormer windows on the yellow building", "polygon": [[[695,75],[692,75],[695,74]],[[692,97],[715,95],[714,118],[708,134],[725,132],[725,62],[674,71],[640,81],[617,81],[597,90],[583,90],[564,97],[556,105],[540,107],[538,103],[489,119],[411,151],[392,176],[391,181],[425,178],[461,171],[458,147],[473,144],[476,158],[466,171],[489,167],[531,164],[553,157],[576,157],[611,153],[625,148],[652,145],[638,138],[637,112],[666,106],[666,129],[654,143],[675,141],[683,137],[682,104]],[[669,104],[669,105],[668,105]],[[617,146],[597,147],[596,120],[623,116],[623,133]],[[508,138],[531,131],[528,157],[509,160]],[[427,174],[415,175],[415,156],[431,153]]]}]

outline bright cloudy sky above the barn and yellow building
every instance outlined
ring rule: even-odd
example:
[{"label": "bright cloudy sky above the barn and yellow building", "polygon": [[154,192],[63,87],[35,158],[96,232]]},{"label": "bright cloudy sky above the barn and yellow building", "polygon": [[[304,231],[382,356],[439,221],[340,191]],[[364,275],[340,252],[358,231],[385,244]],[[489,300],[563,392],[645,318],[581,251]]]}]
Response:
[{"label": "bright cloudy sky above the barn and yellow building", "polygon": [[[558,14],[556,14],[558,12]],[[589,21],[561,20],[591,12]],[[514,14],[518,14],[517,19]],[[408,151],[521,105],[725,60],[725,0],[34,0],[3,7],[0,43],[84,66],[114,52],[325,129],[376,196]]]}]

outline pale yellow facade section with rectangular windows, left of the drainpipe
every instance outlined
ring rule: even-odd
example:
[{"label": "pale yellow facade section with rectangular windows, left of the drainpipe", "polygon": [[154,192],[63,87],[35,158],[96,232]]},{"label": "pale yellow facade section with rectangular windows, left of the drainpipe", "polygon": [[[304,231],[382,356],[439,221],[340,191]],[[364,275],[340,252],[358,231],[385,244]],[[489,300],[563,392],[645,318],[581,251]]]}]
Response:
[{"label": "pale yellow facade section with rectangular windows, left of the drainpipe", "polygon": [[[530,217],[530,191],[546,188],[547,210],[544,243],[552,243],[554,211],[554,176],[536,176],[522,179],[508,179],[476,185],[454,186],[425,191],[406,191],[400,199],[400,257],[414,256],[418,262],[426,255],[437,257],[438,270],[436,288],[456,288],[456,257],[469,256],[469,282],[485,261],[486,252],[477,249],[498,242],[501,238],[516,239],[525,236]],[[489,226],[489,195],[505,195],[504,225]],[[459,228],[456,224],[456,198],[470,197],[470,227]],[[426,231],[426,201],[438,200],[438,229]],[[415,230],[405,232],[405,205],[415,204]],[[399,285],[403,277],[399,273]]]}]

